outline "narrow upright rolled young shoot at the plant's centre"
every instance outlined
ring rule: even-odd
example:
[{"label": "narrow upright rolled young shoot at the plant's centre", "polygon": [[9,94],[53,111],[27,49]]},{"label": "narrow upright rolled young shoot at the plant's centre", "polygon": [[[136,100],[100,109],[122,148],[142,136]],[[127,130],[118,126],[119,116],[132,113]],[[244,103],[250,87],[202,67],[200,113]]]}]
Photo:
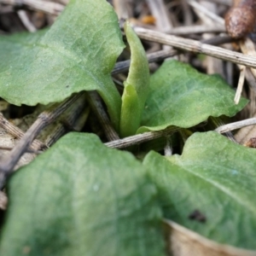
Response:
[{"label": "narrow upright rolled young shoot at the plant's centre", "polygon": [[121,137],[134,135],[139,128],[149,89],[147,56],[143,44],[128,22],[125,23],[125,35],[131,49],[131,66],[122,96]]}]

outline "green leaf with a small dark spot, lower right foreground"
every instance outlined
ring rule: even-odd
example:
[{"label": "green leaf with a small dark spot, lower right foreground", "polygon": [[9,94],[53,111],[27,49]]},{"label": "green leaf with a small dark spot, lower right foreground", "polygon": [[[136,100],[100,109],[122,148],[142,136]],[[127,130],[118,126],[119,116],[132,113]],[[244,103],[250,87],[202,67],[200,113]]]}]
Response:
[{"label": "green leaf with a small dark spot, lower right foreground", "polygon": [[256,249],[255,149],[213,131],[195,133],[181,156],[151,152],[144,166],[166,218],[213,241]]}]

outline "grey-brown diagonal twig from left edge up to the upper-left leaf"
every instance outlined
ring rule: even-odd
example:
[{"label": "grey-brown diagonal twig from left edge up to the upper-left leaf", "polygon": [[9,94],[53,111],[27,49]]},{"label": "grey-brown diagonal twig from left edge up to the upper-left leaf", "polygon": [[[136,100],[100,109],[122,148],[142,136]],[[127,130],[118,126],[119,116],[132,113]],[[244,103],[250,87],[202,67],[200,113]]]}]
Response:
[{"label": "grey-brown diagonal twig from left edge up to the upper-left leaf", "polygon": [[25,153],[26,148],[32,143],[34,138],[38,136],[39,132],[42,131],[45,126],[57,119],[61,113],[69,108],[73,102],[82,95],[83,93],[79,93],[71,96],[65,102],[61,102],[59,105],[53,106],[52,108],[49,108],[49,110],[39,114],[38,119],[26,131],[24,136],[15,145],[15,148],[13,148],[10,154],[0,162],[0,189],[3,188],[6,178],[14,172],[13,169],[20,159],[20,156]]}]

